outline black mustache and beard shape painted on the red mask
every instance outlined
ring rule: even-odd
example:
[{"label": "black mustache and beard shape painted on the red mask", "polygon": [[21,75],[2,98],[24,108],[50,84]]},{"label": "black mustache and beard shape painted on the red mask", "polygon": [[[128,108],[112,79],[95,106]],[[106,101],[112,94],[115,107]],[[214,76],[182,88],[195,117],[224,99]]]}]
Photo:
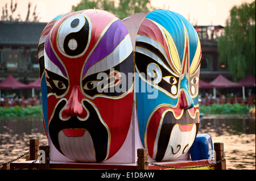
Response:
[{"label": "black mustache and beard shape painted on the red mask", "polygon": [[54,115],[49,122],[49,136],[51,137],[52,143],[56,149],[63,154],[58,140],[59,132],[68,128],[84,128],[92,136],[96,160],[97,162],[101,162],[106,158],[106,154],[108,152],[108,130],[105,125],[101,123],[100,117],[93,106],[85,100],[82,103],[90,113],[86,121],[80,121],[76,116],[72,116],[67,121],[60,120],[59,113],[60,110],[65,106],[66,101],[62,100],[59,104],[57,104]]}]

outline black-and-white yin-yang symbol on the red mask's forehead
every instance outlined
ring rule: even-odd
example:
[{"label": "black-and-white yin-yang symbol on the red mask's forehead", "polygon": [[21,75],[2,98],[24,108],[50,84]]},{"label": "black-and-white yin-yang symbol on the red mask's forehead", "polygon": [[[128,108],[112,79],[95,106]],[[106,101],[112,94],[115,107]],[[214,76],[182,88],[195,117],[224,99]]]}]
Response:
[{"label": "black-and-white yin-yang symbol on the red mask's forehead", "polygon": [[89,46],[91,29],[90,19],[84,14],[65,20],[57,35],[57,47],[61,54],[69,58],[81,57]]}]

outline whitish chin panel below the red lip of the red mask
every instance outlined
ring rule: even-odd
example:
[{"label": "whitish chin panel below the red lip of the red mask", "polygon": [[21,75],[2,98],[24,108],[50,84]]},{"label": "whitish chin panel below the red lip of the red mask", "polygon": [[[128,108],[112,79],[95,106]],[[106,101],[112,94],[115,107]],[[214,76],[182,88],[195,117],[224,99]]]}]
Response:
[{"label": "whitish chin panel below the red lip of the red mask", "polygon": [[67,137],[59,132],[59,144],[63,154],[74,161],[96,162],[92,136],[86,131],[82,137]]}]

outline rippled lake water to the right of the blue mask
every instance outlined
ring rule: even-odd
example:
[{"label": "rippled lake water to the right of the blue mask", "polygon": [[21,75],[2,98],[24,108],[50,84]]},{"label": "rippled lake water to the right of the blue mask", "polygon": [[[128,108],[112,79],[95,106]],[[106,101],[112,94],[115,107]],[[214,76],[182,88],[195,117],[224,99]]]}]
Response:
[{"label": "rippled lake water to the right of the blue mask", "polygon": [[224,143],[226,169],[255,170],[255,117],[205,117],[199,133]]}]

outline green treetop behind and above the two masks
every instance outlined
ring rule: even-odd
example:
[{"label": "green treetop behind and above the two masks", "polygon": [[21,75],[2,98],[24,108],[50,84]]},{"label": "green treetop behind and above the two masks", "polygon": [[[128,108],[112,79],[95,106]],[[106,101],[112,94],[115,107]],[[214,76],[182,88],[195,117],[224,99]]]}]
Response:
[{"label": "green treetop behind and above the two masks", "polygon": [[138,12],[149,12],[154,10],[150,5],[151,0],[82,0],[79,5],[73,6],[72,11],[84,9],[100,9],[109,11],[123,19]]}]

